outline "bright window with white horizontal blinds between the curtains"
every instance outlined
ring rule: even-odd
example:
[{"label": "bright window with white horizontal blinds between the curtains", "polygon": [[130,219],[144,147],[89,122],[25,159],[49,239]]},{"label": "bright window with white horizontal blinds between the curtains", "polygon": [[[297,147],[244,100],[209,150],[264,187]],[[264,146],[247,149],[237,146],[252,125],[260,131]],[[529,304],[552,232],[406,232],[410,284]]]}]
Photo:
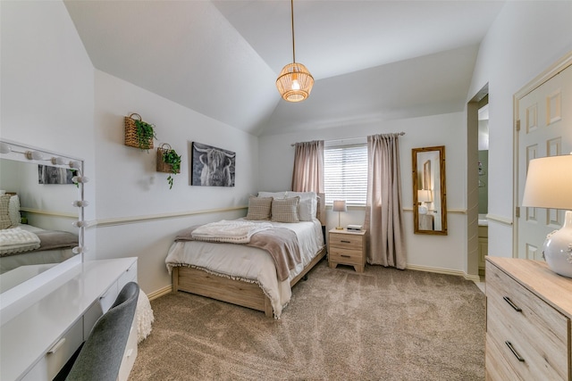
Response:
[{"label": "bright window with white horizontal blinds between the curtains", "polygon": [[366,205],[367,145],[324,147],[325,203],[346,200],[349,205]]}]

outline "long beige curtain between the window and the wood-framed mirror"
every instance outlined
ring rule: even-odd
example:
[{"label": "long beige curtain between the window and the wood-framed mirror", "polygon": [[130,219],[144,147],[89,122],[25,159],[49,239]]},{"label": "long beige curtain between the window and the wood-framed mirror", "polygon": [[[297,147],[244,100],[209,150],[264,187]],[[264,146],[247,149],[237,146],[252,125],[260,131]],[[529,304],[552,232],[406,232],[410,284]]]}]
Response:
[{"label": "long beige curtain between the window and the wood-framed mirror", "polygon": [[399,134],[367,137],[367,262],[405,269]]}]

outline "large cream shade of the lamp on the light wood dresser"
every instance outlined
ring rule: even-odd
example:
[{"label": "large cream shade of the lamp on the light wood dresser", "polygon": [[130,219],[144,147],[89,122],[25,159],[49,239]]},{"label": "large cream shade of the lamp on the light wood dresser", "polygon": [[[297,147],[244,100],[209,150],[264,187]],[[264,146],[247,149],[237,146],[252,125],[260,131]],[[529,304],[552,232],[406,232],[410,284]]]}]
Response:
[{"label": "large cream shade of the lamp on the light wood dresser", "polygon": [[572,210],[572,154],[528,163],[522,206]]}]

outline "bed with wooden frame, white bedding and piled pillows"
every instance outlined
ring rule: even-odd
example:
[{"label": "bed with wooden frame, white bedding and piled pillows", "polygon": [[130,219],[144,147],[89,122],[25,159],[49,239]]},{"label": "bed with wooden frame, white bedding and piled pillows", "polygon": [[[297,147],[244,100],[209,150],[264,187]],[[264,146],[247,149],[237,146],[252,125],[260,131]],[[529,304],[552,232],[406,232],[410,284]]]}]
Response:
[{"label": "bed with wooden frame, white bedding and piled pillows", "polygon": [[[298,218],[292,217],[294,214]],[[240,244],[232,240],[234,237],[226,242],[213,242],[204,236],[192,236],[198,228],[217,223],[261,225],[263,228],[261,231],[254,228],[255,233],[248,243]],[[231,302],[280,319],[283,308],[290,302],[291,287],[306,277],[326,253],[324,194],[259,192],[257,197],[249,198],[245,218],[217,223],[186,228],[175,237],[165,259],[172,275],[172,291]],[[289,248],[286,251],[295,251],[298,247],[299,260],[294,264],[290,261],[287,270],[276,259],[281,257],[280,254],[272,253],[273,250],[263,247],[264,244],[257,244],[270,242],[270,236],[277,236],[279,242],[284,242]],[[281,236],[293,236],[294,239],[280,241]]]}]

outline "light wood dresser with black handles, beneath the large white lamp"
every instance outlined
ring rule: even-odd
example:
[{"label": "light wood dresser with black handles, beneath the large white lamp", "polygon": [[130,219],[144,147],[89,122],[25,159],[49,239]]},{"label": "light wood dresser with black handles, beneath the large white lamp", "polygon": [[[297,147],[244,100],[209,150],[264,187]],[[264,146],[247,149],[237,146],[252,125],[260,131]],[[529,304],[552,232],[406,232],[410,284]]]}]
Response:
[{"label": "light wood dresser with black handles, beneath the large white lamp", "polygon": [[486,259],[486,379],[572,380],[572,279],[543,261]]}]

